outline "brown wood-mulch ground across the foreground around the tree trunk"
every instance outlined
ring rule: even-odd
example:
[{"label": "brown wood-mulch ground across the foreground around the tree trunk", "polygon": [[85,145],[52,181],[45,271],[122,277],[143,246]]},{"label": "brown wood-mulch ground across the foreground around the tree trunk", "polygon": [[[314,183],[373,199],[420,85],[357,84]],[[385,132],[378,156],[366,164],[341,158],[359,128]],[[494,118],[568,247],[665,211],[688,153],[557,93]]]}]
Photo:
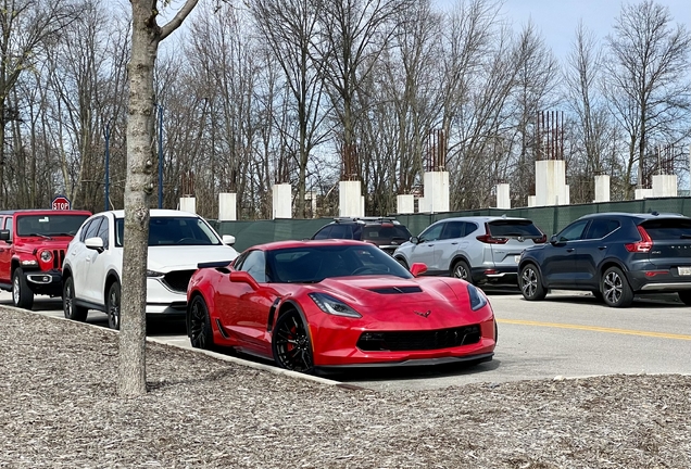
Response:
[{"label": "brown wood-mulch ground across the foreground around the tree trunk", "polygon": [[691,468],[691,377],[374,392],[0,308],[0,468]]}]

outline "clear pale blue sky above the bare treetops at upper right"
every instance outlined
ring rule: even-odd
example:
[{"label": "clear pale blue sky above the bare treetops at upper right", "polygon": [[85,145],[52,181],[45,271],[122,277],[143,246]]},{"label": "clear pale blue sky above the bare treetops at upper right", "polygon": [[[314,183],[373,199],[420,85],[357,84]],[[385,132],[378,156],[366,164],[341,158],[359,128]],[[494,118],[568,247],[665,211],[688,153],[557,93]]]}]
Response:
[{"label": "clear pale blue sky above the bare treetops at upper right", "polygon": [[[457,0],[436,0],[439,8],[450,8]],[[578,21],[601,41],[612,31],[614,20],[623,4],[638,1],[619,0],[504,0],[503,13],[515,30],[532,21],[544,41],[557,59],[565,58],[574,42]],[[691,0],[656,0],[669,8],[674,23],[684,24],[691,30]]]}]

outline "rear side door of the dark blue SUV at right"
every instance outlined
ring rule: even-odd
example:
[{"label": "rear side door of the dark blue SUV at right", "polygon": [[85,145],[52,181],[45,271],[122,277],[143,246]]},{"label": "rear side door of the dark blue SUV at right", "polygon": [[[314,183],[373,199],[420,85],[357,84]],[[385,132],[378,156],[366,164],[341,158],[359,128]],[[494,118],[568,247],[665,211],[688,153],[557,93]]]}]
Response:
[{"label": "rear side door of the dark blue SUV at right", "polygon": [[599,266],[608,251],[607,238],[620,227],[613,218],[594,218],[582,240],[576,243],[574,279],[576,284],[589,289],[599,289]]}]

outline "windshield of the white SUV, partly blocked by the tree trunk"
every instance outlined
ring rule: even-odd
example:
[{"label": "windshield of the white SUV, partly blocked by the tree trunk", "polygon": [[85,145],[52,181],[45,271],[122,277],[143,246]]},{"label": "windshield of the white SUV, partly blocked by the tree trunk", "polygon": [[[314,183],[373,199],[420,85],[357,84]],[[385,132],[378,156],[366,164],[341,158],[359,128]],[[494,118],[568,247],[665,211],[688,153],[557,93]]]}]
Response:
[{"label": "windshield of the white SUV, partly blocked by the tree trunk", "polygon": [[[125,219],[115,220],[115,245],[122,248]],[[200,217],[151,217],[149,245],[218,245],[221,240]]]}]

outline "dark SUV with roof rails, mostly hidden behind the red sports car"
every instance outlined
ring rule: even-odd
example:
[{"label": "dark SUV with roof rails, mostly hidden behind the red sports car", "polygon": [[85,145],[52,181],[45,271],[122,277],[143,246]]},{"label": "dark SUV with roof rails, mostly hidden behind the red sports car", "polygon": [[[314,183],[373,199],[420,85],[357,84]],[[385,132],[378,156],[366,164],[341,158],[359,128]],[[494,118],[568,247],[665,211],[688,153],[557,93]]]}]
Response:
[{"label": "dark SUV with roof rails, mostly hidden behind the red sports car", "polygon": [[376,244],[388,254],[412,237],[400,221],[389,217],[340,217],[321,228],[312,239],[354,239]]}]

